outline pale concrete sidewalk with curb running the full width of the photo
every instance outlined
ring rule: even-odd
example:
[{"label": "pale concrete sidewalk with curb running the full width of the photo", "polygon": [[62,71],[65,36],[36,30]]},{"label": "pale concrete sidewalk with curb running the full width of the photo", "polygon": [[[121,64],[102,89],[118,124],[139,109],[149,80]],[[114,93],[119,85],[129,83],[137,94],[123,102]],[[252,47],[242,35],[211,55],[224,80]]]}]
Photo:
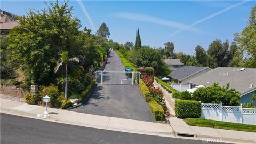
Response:
[{"label": "pale concrete sidewalk with curb running the full width of the photo", "polygon": [[[45,107],[28,105],[17,101],[0,99],[1,113],[23,115],[37,118],[37,114],[43,114]],[[93,127],[97,129],[139,133],[147,135],[158,135],[162,137],[181,137],[192,135],[190,139],[199,140],[221,140],[229,143],[256,143],[256,133],[213,129],[207,127],[188,126],[182,119],[170,117],[169,124],[137,121],[116,117],[98,116],[73,111],[49,108],[50,112],[45,121],[59,122],[65,124]],[[37,118],[39,119],[39,118]],[[193,137],[194,135],[194,137]]]}]

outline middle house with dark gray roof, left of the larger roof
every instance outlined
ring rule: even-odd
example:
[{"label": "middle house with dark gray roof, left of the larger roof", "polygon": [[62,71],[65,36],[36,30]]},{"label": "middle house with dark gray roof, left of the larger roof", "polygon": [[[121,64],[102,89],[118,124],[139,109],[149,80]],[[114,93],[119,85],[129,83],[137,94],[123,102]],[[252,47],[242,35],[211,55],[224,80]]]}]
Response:
[{"label": "middle house with dark gray roof, left of the larger roof", "polygon": [[172,82],[187,84],[190,79],[198,77],[212,70],[209,67],[184,66],[172,71],[168,77]]}]

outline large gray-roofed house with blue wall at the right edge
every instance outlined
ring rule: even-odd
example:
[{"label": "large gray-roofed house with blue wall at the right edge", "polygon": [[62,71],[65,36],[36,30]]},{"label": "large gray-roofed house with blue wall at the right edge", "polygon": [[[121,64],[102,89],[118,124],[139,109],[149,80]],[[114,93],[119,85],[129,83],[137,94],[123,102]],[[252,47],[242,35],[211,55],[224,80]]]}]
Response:
[{"label": "large gray-roofed house with blue wall at the right edge", "polygon": [[210,86],[213,83],[219,83],[220,86],[229,83],[230,88],[241,93],[240,103],[247,104],[252,94],[256,94],[256,68],[218,67],[188,81],[191,88],[198,85]]}]

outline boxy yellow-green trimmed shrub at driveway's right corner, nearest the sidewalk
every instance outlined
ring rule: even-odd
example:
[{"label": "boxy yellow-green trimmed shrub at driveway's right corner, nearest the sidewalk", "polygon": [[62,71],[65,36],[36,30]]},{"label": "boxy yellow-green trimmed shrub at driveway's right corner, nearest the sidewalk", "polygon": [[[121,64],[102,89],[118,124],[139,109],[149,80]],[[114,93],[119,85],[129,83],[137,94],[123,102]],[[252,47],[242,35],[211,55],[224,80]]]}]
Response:
[{"label": "boxy yellow-green trimmed shrub at driveway's right corner, nearest the sidewalk", "polygon": [[156,121],[163,121],[164,119],[164,110],[161,105],[159,105],[155,101],[149,102],[149,107],[152,111],[153,116],[155,117]]}]

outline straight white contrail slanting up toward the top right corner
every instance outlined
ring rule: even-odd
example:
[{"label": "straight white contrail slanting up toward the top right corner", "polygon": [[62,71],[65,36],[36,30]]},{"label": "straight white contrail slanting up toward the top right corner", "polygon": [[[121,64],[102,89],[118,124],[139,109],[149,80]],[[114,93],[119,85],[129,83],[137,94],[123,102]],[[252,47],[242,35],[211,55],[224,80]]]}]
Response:
[{"label": "straight white contrail slanting up toward the top right corner", "polygon": [[218,12],[216,12],[216,13],[214,13],[214,14],[212,14],[212,15],[206,17],[206,18],[203,18],[203,19],[201,19],[201,20],[198,20],[198,21],[194,22],[192,25],[183,27],[183,28],[181,28],[180,30],[175,31],[174,33],[172,33],[172,34],[169,35],[168,37],[174,36],[175,34],[180,33],[180,31],[183,31],[183,30],[186,30],[186,29],[188,29],[188,28],[190,28],[190,27],[193,27],[193,26],[197,25],[198,23],[201,23],[201,22],[203,22],[203,21],[206,21],[206,20],[208,20],[208,19],[211,19],[211,18],[213,18],[213,17],[215,17],[215,16],[217,16],[217,15],[223,13],[223,12],[226,12],[226,11],[228,11],[228,10],[231,10],[231,9],[233,9],[234,7],[236,7],[236,6],[238,6],[238,5],[241,5],[241,4],[243,4],[243,3],[246,3],[246,2],[249,2],[249,1],[242,1],[242,2],[240,2],[240,3],[237,3],[237,4],[234,4],[234,5],[228,6],[228,7],[226,7],[225,9],[223,9],[223,10],[221,10],[221,11],[218,11]]}]

